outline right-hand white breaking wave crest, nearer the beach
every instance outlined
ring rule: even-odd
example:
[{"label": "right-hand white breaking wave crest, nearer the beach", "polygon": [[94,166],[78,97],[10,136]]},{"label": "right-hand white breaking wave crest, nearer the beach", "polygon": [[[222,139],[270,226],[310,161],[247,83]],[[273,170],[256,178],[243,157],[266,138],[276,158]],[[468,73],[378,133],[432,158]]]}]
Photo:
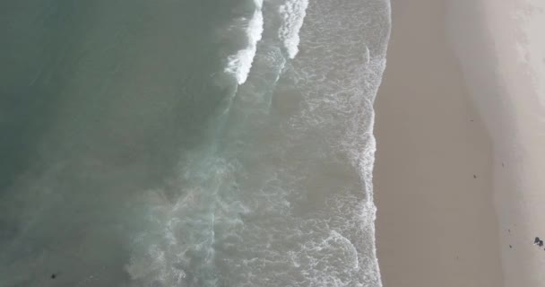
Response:
[{"label": "right-hand white breaking wave crest, nearer the beach", "polygon": [[283,19],[278,37],[284,44],[290,58],[298,53],[299,30],[307,15],[308,0],[287,0],[280,6],[280,14]]}]

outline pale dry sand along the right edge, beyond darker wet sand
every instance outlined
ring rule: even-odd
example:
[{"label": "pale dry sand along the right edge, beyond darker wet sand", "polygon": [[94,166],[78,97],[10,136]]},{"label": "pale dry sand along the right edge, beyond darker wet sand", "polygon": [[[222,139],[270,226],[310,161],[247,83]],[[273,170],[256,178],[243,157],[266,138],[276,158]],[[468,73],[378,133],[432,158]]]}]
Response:
[{"label": "pale dry sand along the right edge, beyond darker wet sand", "polygon": [[545,238],[545,2],[458,0],[448,10],[463,74],[493,139],[505,285],[545,286],[545,250],[532,244]]}]

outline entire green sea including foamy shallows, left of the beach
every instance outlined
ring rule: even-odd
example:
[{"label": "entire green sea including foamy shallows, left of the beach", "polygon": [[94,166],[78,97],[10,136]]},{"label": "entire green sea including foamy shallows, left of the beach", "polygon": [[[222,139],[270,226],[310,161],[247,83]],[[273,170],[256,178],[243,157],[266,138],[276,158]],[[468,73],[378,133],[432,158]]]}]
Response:
[{"label": "entire green sea including foamy shallows, left of the beach", "polygon": [[380,286],[389,30],[387,0],[2,2],[0,286]]}]

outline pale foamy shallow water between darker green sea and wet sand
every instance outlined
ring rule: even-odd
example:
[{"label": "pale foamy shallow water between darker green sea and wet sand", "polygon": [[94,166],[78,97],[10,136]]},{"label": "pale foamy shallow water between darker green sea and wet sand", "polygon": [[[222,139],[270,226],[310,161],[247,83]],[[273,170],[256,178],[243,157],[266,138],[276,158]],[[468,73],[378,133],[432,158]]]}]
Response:
[{"label": "pale foamy shallow water between darker green sea and wet sand", "polygon": [[[155,208],[164,242],[146,240],[152,244],[127,267],[133,278],[160,286],[380,286],[372,106],[389,25],[385,0],[255,3],[247,46],[225,69],[245,84],[214,139],[220,148],[181,161],[184,196]],[[281,81],[267,72],[279,67]]]}]

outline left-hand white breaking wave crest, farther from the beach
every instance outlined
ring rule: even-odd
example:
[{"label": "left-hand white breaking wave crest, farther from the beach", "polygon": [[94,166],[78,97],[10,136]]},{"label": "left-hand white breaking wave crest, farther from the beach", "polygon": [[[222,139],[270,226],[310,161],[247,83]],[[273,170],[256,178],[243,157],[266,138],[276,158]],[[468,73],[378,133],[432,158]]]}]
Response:
[{"label": "left-hand white breaking wave crest, farther from the beach", "polygon": [[238,50],[237,54],[228,57],[228,65],[225,72],[234,74],[238,84],[246,82],[252,62],[254,62],[255,52],[257,51],[257,42],[261,40],[263,34],[263,0],[255,0],[255,11],[252,19],[247,24],[247,40],[246,48]]}]

